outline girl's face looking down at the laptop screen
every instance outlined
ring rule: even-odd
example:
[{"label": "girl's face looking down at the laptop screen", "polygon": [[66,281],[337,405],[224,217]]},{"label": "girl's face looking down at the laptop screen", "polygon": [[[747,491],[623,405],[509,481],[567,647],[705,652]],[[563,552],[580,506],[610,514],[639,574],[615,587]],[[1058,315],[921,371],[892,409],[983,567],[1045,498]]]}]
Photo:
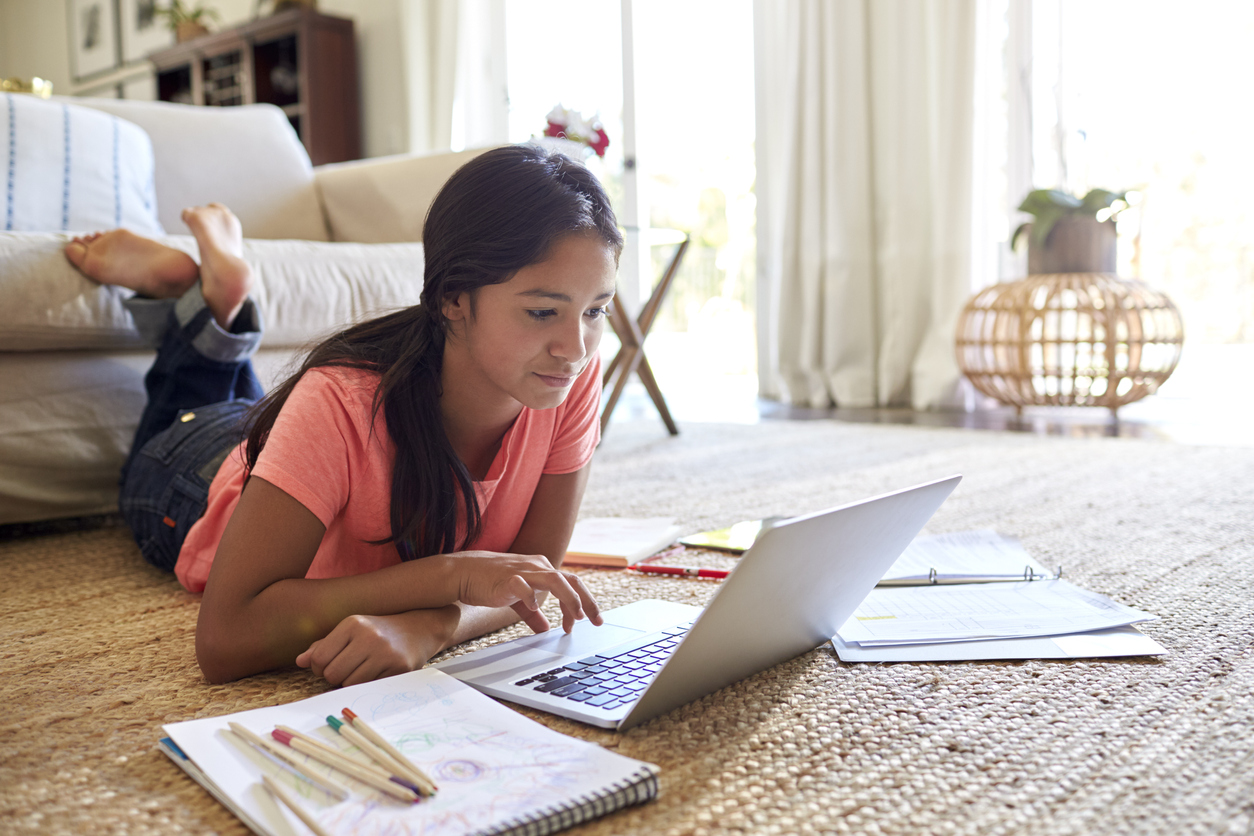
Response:
[{"label": "girl's face looking down at the laptop screen", "polygon": [[558,406],[596,355],[614,295],[614,256],[594,234],[559,238],[545,261],[445,302],[450,386],[488,406]]}]

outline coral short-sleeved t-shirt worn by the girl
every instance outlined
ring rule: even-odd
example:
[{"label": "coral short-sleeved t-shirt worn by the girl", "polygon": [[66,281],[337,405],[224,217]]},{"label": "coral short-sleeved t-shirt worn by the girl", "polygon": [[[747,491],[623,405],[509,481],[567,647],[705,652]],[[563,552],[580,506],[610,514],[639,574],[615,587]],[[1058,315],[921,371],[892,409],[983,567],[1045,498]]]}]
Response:
[{"label": "coral short-sleeved t-shirt worn by the girl", "polygon": [[[326,526],[306,578],[340,578],[400,563],[391,534],[394,446],[382,410],[370,431],[379,375],[311,368],[292,389],[257,456],[253,475],[290,494]],[[574,473],[601,440],[601,361],[593,358],[566,400],[551,410],[523,407],[483,481],[475,483],[483,531],[468,548],[508,551],[544,474]],[[203,592],[222,533],[245,483],[243,445],[222,462],[208,506],[174,565],[179,583]]]}]

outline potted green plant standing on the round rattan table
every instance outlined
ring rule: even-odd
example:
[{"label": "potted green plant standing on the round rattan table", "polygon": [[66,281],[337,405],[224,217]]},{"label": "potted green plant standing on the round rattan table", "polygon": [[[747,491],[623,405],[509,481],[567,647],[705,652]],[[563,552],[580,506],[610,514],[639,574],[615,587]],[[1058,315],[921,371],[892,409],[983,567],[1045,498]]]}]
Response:
[{"label": "potted green plant standing on the round rattan table", "polygon": [[1027,272],[1114,273],[1115,217],[1127,192],[1092,189],[1082,198],[1062,189],[1035,189],[1020,204],[1032,221],[1020,224],[1011,247],[1027,233]]}]

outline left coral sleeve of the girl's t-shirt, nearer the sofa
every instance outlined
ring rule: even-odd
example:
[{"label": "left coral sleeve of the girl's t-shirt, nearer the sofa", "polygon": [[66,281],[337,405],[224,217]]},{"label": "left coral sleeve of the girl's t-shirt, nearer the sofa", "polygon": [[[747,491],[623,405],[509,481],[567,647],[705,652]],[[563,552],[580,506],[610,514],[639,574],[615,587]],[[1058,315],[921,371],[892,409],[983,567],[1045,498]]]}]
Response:
[{"label": "left coral sleeve of the girl's t-shirt, nearer the sofa", "polygon": [[[355,464],[367,459],[377,377],[340,368],[305,372],[257,456],[265,479],[330,526],[352,493]],[[315,490],[316,486],[316,490]]]}]

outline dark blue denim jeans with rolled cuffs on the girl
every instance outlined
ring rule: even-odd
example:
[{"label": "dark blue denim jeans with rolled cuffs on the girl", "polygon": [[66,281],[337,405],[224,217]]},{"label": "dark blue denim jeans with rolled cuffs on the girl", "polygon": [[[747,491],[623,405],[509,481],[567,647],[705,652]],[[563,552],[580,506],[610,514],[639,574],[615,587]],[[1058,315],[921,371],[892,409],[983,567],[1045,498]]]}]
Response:
[{"label": "dark blue denim jeans with rolled cuffs on the girl", "polygon": [[127,302],[157,346],[144,377],[148,402],[122,468],[118,505],[148,563],[173,569],[187,531],[204,514],[209,483],[265,394],[252,368],[261,317],[251,300],[224,331],[201,286],[174,300]]}]

